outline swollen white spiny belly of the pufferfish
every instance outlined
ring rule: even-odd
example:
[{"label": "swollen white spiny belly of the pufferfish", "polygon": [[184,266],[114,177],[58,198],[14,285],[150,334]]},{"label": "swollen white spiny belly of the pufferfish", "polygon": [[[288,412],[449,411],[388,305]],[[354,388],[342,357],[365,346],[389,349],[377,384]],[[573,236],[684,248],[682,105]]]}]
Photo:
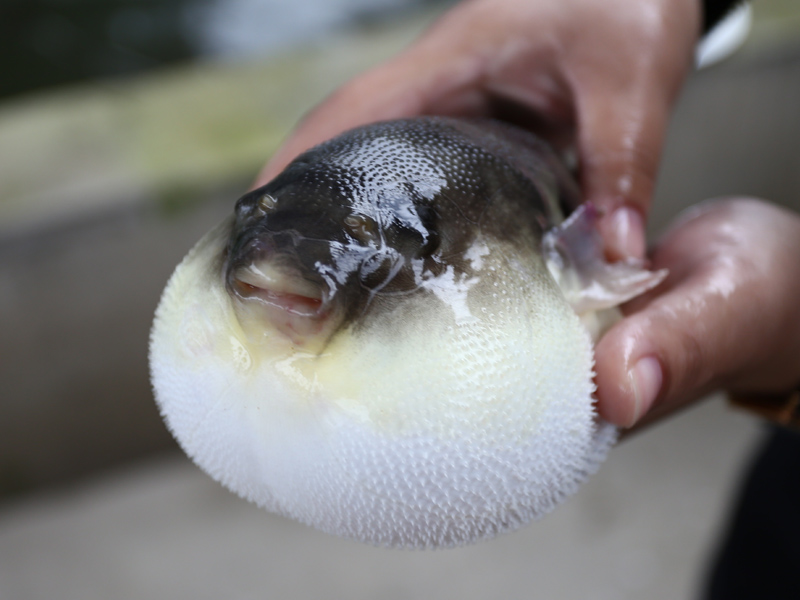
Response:
[{"label": "swollen white spiny belly of the pufferfish", "polygon": [[613,443],[589,335],[538,257],[489,245],[477,279],[432,281],[316,355],[242,328],[224,243],[170,280],[151,365],[181,446],[243,497],[375,544],[458,545],[546,513]]}]

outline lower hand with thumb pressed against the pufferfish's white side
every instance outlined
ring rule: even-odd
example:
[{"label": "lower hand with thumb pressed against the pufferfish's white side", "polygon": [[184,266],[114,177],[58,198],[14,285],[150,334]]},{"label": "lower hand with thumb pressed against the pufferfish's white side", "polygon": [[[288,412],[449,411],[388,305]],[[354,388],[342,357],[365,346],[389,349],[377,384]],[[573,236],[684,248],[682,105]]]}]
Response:
[{"label": "lower hand with thumb pressed against the pufferfish's white side", "polygon": [[597,345],[598,410],[629,427],[719,388],[800,382],[800,215],[751,199],[690,209],[664,236],[658,288]]}]

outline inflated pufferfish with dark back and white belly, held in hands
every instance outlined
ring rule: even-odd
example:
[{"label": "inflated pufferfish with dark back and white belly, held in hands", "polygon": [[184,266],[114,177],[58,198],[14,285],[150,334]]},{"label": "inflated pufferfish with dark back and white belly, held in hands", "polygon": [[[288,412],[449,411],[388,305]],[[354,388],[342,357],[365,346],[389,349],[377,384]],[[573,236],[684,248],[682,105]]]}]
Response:
[{"label": "inflated pufferfish with dark back and white belly, held in hands", "polygon": [[547,144],[496,122],[312,148],[169,280],[150,343],[167,426],[240,496],[376,545],[547,513],[616,439],[593,337],[664,276],[606,263],[579,202]]}]

